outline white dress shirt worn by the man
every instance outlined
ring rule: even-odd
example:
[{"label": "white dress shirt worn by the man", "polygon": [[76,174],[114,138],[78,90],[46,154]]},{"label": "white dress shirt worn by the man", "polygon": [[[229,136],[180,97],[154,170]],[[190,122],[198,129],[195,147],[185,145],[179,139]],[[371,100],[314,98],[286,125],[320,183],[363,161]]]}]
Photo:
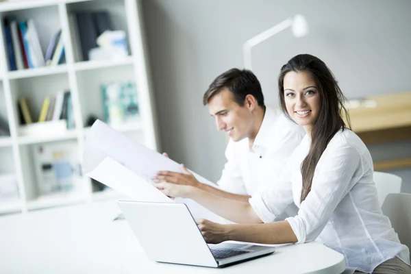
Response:
[{"label": "white dress shirt worn by the man", "polygon": [[[248,138],[238,142],[229,140],[225,151],[227,163],[217,184],[227,192],[240,195],[252,195],[258,188],[272,184],[272,178],[282,173],[286,160],[305,134],[302,127],[281,111],[266,108],[251,148]],[[292,205],[287,214],[295,216],[297,207]],[[277,220],[281,218],[284,216]]]}]

